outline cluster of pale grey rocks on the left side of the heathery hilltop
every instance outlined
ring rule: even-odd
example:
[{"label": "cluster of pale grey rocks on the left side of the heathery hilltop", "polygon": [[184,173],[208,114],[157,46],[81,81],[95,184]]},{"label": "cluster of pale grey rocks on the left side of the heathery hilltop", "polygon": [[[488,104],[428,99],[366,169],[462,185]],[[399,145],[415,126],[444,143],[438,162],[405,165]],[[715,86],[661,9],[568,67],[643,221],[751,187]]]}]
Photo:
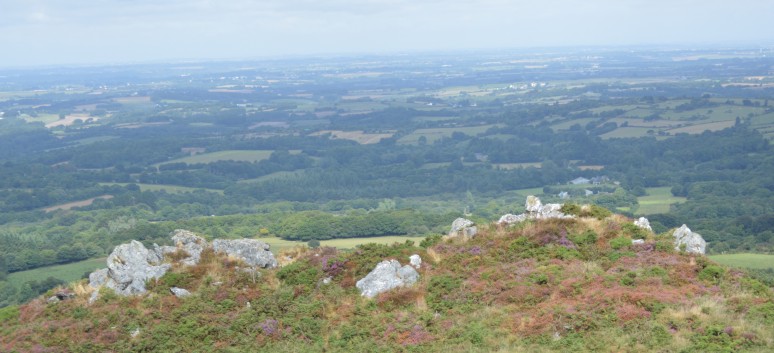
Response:
[{"label": "cluster of pale grey rocks on the left side of the heathery hilltop", "polygon": [[[143,294],[146,292],[146,281],[161,278],[172,267],[172,264],[164,262],[164,255],[182,251],[188,256],[179,263],[193,266],[199,263],[202,252],[209,247],[215,252],[238,258],[252,267],[277,266],[274,255],[269,251],[269,245],[257,240],[217,239],[210,245],[204,238],[178,229],[172,233],[172,241],[175,246],[153,244],[152,250],[136,240],[115,247],[107,258],[108,268],[92,272],[89,275],[89,285],[95,289],[104,286],[119,295]],[[90,301],[96,300],[97,292],[94,293]]]}]

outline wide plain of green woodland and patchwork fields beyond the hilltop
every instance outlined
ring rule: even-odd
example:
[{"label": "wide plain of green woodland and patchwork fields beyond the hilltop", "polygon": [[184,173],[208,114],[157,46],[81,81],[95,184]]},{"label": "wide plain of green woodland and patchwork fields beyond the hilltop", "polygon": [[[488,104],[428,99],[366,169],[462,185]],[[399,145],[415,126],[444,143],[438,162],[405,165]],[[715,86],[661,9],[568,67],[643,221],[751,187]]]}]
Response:
[{"label": "wide plain of green woodland and patchwork fields beyond the hilltop", "polygon": [[[771,252],[774,91],[746,77],[768,77],[772,59],[646,54],[529,70],[482,69],[506,54],[249,72],[213,63],[185,80],[165,66],[4,72],[0,279],[130,239],[164,243],[176,228],[304,241],[440,234],[464,213],[520,212],[527,189],[634,216],[638,197],[668,187],[685,201],[646,214],[655,230],[687,223],[710,252]],[[382,75],[358,75],[371,71]],[[204,158],[235,151],[249,158]],[[568,187],[600,176],[592,195]]]}]

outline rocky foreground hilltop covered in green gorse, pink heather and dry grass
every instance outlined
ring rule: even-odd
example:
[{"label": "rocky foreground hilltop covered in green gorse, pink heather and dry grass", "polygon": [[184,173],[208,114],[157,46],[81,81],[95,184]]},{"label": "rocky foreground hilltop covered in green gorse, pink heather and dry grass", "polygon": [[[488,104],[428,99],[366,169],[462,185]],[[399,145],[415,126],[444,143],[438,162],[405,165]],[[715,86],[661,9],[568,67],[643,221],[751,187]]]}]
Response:
[{"label": "rocky foreground hilltop covered in green gorse, pink heather and dry grass", "polygon": [[[146,281],[145,294],[103,288],[90,303],[93,289],[81,281],[49,293],[66,300],[38,298],[2,309],[0,350],[774,348],[774,294],[767,286],[676,248],[672,231],[654,234],[597,206],[546,206],[529,212],[528,201],[523,219],[475,229],[455,222],[449,236],[419,244],[368,244],[351,252],[299,247],[281,253],[277,268],[270,261],[251,267],[207,246],[197,248],[196,262],[189,261],[194,254],[168,249],[169,271]],[[398,272],[413,271],[415,282],[361,295],[359,281],[377,264],[386,268],[384,260],[396,260],[403,266]],[[171,288],[190,294],[178,297]]]}]

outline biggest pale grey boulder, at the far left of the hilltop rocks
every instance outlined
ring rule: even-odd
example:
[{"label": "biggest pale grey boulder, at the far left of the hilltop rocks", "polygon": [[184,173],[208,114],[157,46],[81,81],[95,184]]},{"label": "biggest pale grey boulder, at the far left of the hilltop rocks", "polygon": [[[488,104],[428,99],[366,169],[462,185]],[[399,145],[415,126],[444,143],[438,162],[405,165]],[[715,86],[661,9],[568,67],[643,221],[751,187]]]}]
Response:
[{"label": "biggest pale grey boulder, at the far left of the hilltop rocks", "polygon": [[[108,256],[107,265],[104,286],[113,289],[119,295],[145,293],[145,282],[161,278],[171,267],[170,264],[160,263],[158,254],[148,250],[136,240],[116,246]],[[103,273],[97,272],[93,278],[95,284],[103,280]],[[89,280],[92,281],[91,275]]]}]

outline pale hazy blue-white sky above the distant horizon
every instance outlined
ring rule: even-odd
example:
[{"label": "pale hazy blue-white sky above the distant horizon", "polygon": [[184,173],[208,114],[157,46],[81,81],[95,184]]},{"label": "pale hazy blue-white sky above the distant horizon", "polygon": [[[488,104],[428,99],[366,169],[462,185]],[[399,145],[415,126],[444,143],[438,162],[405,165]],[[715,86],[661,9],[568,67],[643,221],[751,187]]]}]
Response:
[{"label": "pale hazy blue-white sky above the distant horizon", "polygon": [[0,0],[0,67],[774,43],[774,0]]}]

